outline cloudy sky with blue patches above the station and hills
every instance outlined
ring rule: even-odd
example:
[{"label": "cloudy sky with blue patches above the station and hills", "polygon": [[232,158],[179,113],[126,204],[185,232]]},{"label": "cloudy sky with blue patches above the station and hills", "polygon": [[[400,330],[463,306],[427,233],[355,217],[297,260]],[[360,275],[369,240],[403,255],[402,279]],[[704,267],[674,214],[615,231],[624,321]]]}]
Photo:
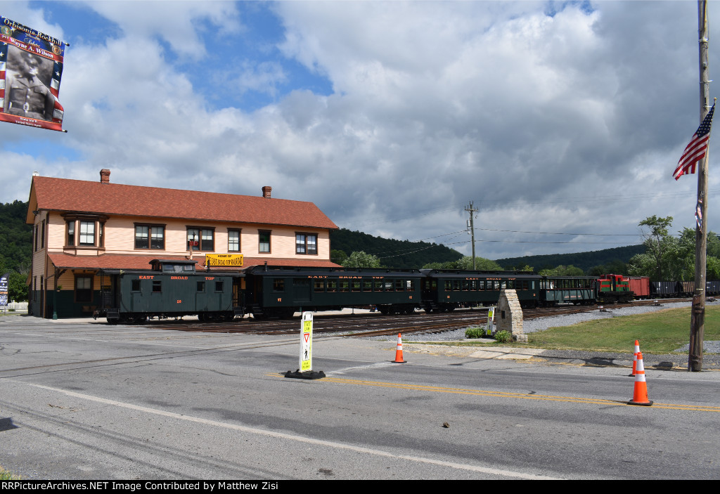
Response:
[{"label": "cloudy sky with blue patches above the station and hills", "polygon": [[[0,1],[0,14],[70,44],[68,132],[0,122],[0,202],[27,201],[34,171],[272,186],[339,227],[469,254],[473,201],[490,259],[638,244],[652,214],[694,223],[696,175],[672,171],[699,124],[695,1]],[[712,79],[717,3],[709,19]]]}]

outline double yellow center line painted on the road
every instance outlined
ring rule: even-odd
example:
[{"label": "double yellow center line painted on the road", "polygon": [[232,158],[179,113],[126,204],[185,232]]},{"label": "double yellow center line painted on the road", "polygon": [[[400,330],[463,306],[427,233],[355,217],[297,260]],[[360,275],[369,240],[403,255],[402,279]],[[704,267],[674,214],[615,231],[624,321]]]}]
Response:
[{"label": "double yellow center line painted on the road", "polygon": [[[273,377],[281,377],[277,374],[268,374]],[[595,405],[628,405],[628,401],[632,398],[632,389],[629,390],[628,398],[626,400],[606,400],[602,398],[579,398],[573,396],[554,396],[554,395],[538,395],[538,394],[526,394],[526,393],[510,393],[509,391],[490,391],[490,390],[474,390],[465,388],[444,388],[441,386],[430,386],[420,384],[400,384],[400,383],[385,383],[382,381],[369,381],[359,379],[347,379],[347,378],[334,378],[328,376],[320,380],[322,383],[337,383],[337,384],[349,384],[349,385],[361,385],[361,386],[377,386],[380,388],[395,388],[405,390],[418,390],[418,391],[430,391],[431,393],[454,393],[460,395],[475,395],[475,396],[494,396],[496,398],[521,398],[523,400],[543,400],[543,401],[564,401],[569,403],[592,403]],[[703,405],[683,405],[683,404],[672,404],[672,403],[657,403],[654,402],[651,408],[667,408],[671,410],[688,410],[688,411],[708,411],[720,413],[720,406],[703,406]]]}]

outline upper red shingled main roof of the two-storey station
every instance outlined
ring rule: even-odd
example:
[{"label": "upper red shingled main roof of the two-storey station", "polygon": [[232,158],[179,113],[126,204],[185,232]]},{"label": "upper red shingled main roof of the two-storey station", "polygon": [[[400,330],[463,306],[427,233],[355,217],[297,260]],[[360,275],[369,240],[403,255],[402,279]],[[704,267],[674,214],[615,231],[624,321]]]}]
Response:
[{"label": "upper red shingled main roof of the two-storey station", "polygon": [[[32,178],[31,207],[33,196],[37,200],[37,209],[50,211],[338,228],[314,203],[261,196],[179,191],[40,176]],[[28,216],[32,223],[30,211]]]}]

